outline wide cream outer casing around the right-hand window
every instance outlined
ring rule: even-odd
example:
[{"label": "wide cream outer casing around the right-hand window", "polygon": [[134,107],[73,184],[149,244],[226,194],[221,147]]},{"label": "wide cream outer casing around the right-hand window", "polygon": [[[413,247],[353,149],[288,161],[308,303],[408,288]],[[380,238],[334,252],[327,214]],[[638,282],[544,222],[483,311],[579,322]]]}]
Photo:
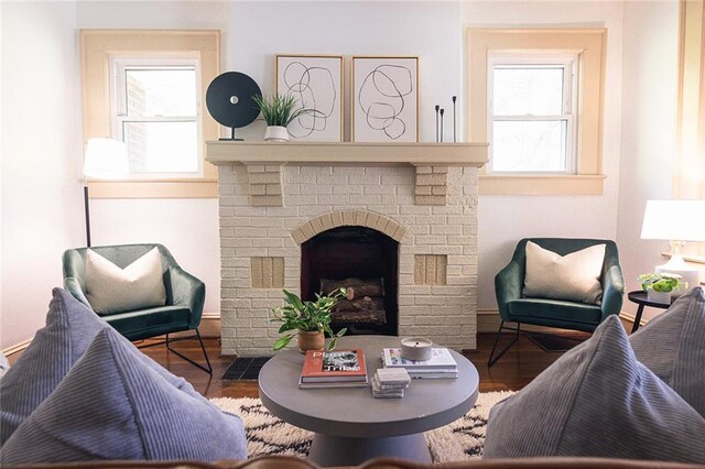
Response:
[{"label": "wide cream outer casing around the right-hand window", "polygon": [[487,57],[489,52],[575,51],[579,61],[576,174],[488,174],[480,168],[480,195],[600,195],[603,174],[603,99],[606,29],[467,30],[467,137],[487,142]]}]

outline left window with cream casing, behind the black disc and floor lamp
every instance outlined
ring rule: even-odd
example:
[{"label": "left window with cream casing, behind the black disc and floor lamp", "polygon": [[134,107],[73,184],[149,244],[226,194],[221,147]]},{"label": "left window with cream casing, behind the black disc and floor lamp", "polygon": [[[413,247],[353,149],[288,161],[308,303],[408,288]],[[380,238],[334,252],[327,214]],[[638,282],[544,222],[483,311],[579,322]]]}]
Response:
[{"label": "left window with cream casing, behind the black disc and floor lamp", "polygon": [[93,198],[217,197],[205,106],[220,70],[220,33],[82,30],[84,139],[126,142],[129,177],[89,178]]}]

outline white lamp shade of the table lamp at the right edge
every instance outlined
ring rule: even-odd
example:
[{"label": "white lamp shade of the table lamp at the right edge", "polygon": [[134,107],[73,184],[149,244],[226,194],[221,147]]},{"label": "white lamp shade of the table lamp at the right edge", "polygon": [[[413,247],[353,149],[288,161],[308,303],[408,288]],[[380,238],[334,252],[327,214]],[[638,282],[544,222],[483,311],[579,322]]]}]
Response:
[{"label": "white lamp shade of the table lamp at the right edge", "polygon": [[705,200],[648,200],[641,239],[705,241]]}]

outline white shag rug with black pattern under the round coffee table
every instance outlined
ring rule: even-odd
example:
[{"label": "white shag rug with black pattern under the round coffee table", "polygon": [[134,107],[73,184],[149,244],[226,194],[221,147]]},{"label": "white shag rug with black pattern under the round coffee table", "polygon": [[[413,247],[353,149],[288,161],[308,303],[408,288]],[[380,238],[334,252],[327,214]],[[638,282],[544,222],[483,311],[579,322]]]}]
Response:
[{"label": "white shag rug with black pattern under the round coffee table", "polygon": [[[425,433],[434,462],[460,461],[482,456],[489,410],[513,391],[480,393],[475,406],[457,421]],[[263,455],[308,456],[313,434],[286,424],[262,405],[259,399],[212,399],[226,412],[239,415],[245,423],[248,457]]]}]

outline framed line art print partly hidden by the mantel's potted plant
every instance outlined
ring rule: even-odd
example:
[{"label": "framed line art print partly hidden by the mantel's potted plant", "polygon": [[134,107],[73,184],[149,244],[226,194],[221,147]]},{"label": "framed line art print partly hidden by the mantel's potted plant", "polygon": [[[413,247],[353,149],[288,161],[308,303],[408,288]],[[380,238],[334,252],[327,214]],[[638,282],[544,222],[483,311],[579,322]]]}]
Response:
[{"label": "framed line art print partly hidden by the mantel's potted plant", "polygon": [[294,140],[343,141],[343,56],[286,55],[275,57],[276,92],[292,95],[308,109],[289,124]]}]

